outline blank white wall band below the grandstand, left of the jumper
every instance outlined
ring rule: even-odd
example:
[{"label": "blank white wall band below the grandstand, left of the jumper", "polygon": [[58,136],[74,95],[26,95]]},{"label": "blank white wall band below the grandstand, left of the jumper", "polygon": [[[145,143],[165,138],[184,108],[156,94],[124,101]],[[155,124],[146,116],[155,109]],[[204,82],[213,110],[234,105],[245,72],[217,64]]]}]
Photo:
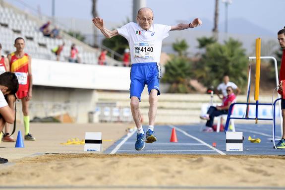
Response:
[{"label": "blank white wall band below the grandstand, left of the jumper", "polygon": [[32,59],[33,83],[84,89],[129,90],[130,67]]}]

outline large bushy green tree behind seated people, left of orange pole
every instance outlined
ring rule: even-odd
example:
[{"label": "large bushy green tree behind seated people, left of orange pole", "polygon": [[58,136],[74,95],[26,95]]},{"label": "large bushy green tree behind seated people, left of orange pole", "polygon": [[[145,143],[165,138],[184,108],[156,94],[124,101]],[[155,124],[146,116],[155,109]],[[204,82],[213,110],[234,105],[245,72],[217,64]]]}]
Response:
[{"label": "large bushy green tree behind seated people, left of orange pole", "polygon": [[206,46],[206,52],[193,70],[206,86],[217,86],[224,75],[229,75],[242,89],[246,85],[247,63],[242,43],[229,38],[225,44],[216,42]]}]

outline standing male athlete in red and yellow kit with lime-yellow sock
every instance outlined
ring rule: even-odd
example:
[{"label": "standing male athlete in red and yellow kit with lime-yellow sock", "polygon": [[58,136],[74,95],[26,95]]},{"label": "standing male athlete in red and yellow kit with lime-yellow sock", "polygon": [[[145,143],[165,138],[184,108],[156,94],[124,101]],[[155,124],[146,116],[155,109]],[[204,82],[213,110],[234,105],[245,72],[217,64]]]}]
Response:
[{"label": "standing male athlete in red and yellow kit with lime-yellow sock", "polygon": [[19,81],[19,90],[17,98],[22,102],[22,111],[24,115],[25,140],[35,140],[30,134],[29,101],[32,98],[32,58],[24,52],[25,40],[21,37],[15,39],[14,47],[16,51],[8,55],[10,71],[14,72]]}]

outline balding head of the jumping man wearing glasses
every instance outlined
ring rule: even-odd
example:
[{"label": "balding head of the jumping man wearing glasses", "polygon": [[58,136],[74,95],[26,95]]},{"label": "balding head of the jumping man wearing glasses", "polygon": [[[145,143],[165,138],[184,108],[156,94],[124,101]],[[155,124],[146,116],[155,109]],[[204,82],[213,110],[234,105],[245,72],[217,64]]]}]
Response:
[{"label": "balding head of the jumping man wearing glasses", "polygon": [[137,23],[144,30],[150,29],[153,22],[153,11],[148,7],[143,7],[138,10]]}]

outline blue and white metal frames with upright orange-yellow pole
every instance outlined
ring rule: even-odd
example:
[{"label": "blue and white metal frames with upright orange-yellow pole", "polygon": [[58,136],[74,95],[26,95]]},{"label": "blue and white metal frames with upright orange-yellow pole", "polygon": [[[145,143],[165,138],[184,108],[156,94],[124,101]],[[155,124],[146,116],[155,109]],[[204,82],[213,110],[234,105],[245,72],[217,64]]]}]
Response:
[{"label": "blue and white metal frames with upright orange-yellow pole", "polygon": [[[275,147],[275,128],[276,128],[276,123],[275,123],[275,115],[276,115],[276,104],[277,102],[279,102],[279,108],[281,108],[281,95],[278,94],[278,98],[274,101],[273,104],[269,104],[269,103],[259,103],[259,82],[260,82],[260,62],[261,60],[264,59],[271,59],[274,61],[274,66],[275,66],[275,76],[276,76],[276,87],[278,88],[279,85],[279,79],[278,79],[278,67],[277,67],[277,60],[274,57],[271,56],[265,56],[265,57],[261,57],[260,55],[260,47],[261,47],[261,39],[257,38],[256,39],[256,56],[255,57],[248,57],[248,60],[251,62],[251,60],[256,60],[256,75],[255,75],[255,94],[254,94],[254,100],[256,101],[255,103],[249,103],[249,92],[250,92],[250,73],[251,73],[251,65],[249,66],[249,77],[248,77],[248,84],[247,84],[247,102],[246,103],[232,103],[229,106],[228,109],[228,117],[227,117],[227,122],[226,122],[226,126],[225,126],[225,133],[228,131],[228,126],[229,126],[229,121],[230,119],[234,119],[234,120],[255,120],[255,123],[257,124],[258,120],[267,120],[267,121],[272,121],[273,122],[273,143],[274,143],[274,147]],[[231,112],[232,112],[232,108],[234,105],[246,105],[246,117],[242,117],[242,118],[237,118],[237,117],[231,117]],[[249,105],[255,105],[256,109],[255,109],[255,118],[249,118],[248,117],[248,106]],[[272,106],[273,107],[273,117],[272,118],[258,118],[258,106],[259,105],[266,105],[266,106]],[[280,124],[281,124],[281,133],[283,133],[283,128],[282,128],[282,124],[283,124],[283,118],[282,118],[282,113],[279,112],[280,115]]]}]

